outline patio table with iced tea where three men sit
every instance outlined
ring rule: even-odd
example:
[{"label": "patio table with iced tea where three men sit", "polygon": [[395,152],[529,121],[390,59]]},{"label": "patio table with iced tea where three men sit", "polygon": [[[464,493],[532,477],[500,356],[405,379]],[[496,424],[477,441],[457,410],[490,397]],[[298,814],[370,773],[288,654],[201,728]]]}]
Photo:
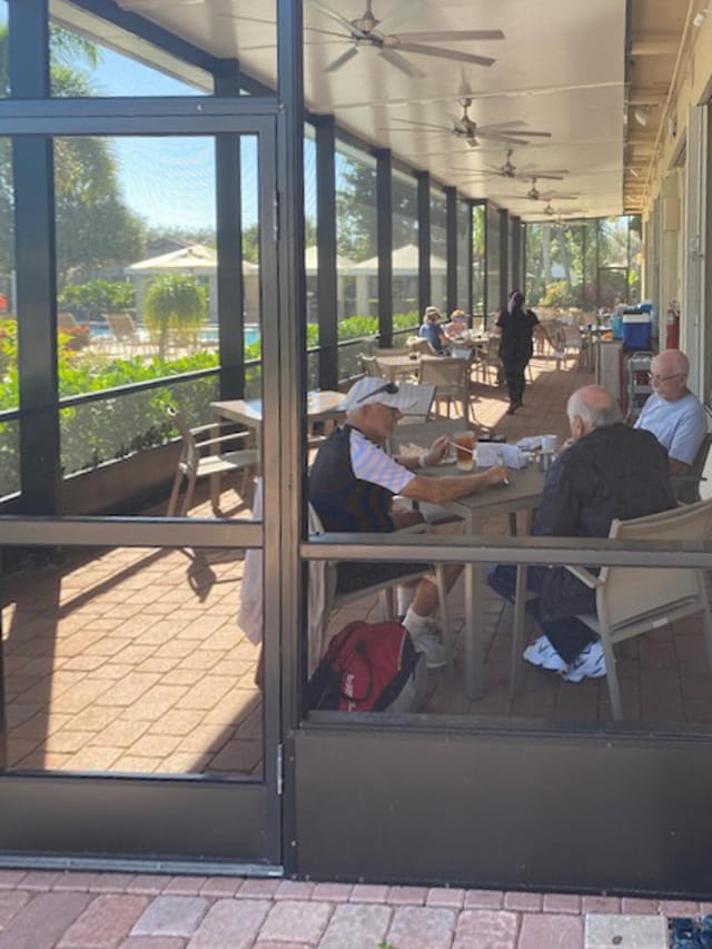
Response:
[{"label": "patio table with iced tea where three men sit", "polygon": [[[475,473],[486,468],[475,468]],[[453,465],[425,468],[429,477],[453,477],[457,471]],[[463,473],[465,474],[465,473]],[[530,464],[518,471],[510,471],[510,484],[468,494],[458,501],[448,501],[442,506],[457,514],[465,522],[465,534],[482,534],[488,517],[500,514],[516,514],[538,506],[544,487],[544,474],[538,465]],[[485,584],[482,563],[465,564],[465,693],[468,699],[479,699],[484,692],[485,645]]]}]

